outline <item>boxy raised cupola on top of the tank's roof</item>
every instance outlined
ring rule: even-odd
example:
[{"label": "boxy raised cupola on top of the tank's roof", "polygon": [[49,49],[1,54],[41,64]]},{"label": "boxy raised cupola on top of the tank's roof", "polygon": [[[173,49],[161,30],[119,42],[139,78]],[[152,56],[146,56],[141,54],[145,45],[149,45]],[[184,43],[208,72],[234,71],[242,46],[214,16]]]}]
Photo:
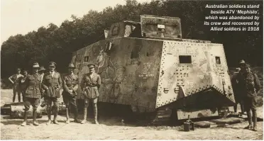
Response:
[{"label": "boxy raised cupola on top of the tank's roof", "polygon": [[182,38],[180,18],[141,15],[141,35],[147,38]]}]

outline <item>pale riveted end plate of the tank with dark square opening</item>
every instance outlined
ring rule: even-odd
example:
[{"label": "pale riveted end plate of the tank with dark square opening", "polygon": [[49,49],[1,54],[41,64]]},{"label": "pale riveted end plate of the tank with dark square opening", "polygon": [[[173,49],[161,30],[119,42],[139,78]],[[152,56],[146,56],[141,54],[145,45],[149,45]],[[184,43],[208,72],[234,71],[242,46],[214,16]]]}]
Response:
[{"label": "pale riveted end plate of the tank with dark square opening", "polygon": [[234,102],[221,44],[164,41],[160,64],[156,108],[211,87]]}]

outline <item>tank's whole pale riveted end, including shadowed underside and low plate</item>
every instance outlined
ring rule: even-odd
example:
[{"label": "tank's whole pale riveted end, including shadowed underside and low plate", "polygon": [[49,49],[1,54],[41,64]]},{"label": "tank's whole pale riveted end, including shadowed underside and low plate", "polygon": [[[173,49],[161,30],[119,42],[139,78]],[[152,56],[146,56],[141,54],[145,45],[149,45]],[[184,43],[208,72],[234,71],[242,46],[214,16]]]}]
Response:
[{"label": "tank's whole pale riveted end, including shadowed underside and low plate", "polygon": [[223,45],[191,41],[163,42],[156,108],[177,109],[178,119],[218,115],[234,103]]}]

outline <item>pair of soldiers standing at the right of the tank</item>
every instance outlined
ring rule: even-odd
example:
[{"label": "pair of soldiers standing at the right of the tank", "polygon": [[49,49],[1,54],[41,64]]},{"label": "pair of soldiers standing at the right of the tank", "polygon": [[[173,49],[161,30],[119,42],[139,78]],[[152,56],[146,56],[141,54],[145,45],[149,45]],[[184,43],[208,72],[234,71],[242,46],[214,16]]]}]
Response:
[{"label": "pair of soldiers standing at the right of the tank", "polygon": [[[257,131],[257,112],[256,112],[256,96],[260,90],[260,81],[258,76],[251,71],[250,64],[244,60],[239,62],[239,67],[232,78],[233,92],[236,100],[234,112],[237,112],[237,104],[241,105],[241,114],[245,111],[248,115],[249,125],[246,129]],[[251,115],[252,111],[252,115]],[[253,125],[252,125],[253,120]]]}]

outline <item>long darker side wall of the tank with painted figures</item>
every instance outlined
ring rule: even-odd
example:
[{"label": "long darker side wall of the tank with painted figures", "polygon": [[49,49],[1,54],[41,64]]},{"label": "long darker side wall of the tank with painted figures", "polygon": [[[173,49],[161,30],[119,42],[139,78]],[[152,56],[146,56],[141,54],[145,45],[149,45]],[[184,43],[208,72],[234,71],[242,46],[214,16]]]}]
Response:
[{"label": "long darker side wall of the tank with painted figures", "polygon": [[114,38],[78,50],[72,62],[79,80],[89,72],[87,64],[97,64],[102,83],[99,101],[131,105],[133,111],[155,111],[162,46],[160,40]]}]

